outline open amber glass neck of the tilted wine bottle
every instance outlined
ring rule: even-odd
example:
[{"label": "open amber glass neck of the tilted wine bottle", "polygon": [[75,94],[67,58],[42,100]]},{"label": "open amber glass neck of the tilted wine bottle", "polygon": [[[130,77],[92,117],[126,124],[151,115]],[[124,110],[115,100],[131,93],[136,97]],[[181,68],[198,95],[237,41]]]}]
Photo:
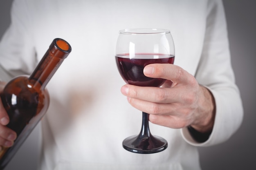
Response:
[{"label": "open amber glass neck of the tilted wine bottle", "polygon": [[59,38],[54,39],[48,51],[29,77],[30,85],[33,88],[45,89],[49,80],[70,52],[71,46],[67,42]]}]

